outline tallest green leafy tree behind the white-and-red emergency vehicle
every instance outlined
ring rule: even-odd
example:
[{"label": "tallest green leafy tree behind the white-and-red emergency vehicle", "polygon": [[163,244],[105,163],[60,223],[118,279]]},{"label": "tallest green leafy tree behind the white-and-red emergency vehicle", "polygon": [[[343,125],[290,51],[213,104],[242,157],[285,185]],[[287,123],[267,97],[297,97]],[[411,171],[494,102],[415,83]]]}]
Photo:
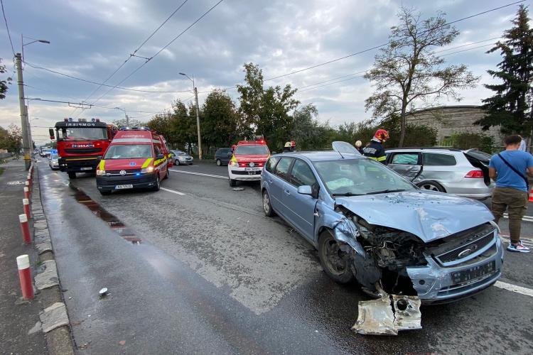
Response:
[{"label": "tallest green leafy tree behind the white-and-red emergency vehicle", "polygon": [[290,111],[296,109],[296,89],[286,84],[264,89],[263,74],[258,65],[244,65],[244,85],[237,85],[240,97],[239,111],[242,114],[242,133],[247,136],[262,134],[271,148],[281,148],[291,138],[294,129]]}]

